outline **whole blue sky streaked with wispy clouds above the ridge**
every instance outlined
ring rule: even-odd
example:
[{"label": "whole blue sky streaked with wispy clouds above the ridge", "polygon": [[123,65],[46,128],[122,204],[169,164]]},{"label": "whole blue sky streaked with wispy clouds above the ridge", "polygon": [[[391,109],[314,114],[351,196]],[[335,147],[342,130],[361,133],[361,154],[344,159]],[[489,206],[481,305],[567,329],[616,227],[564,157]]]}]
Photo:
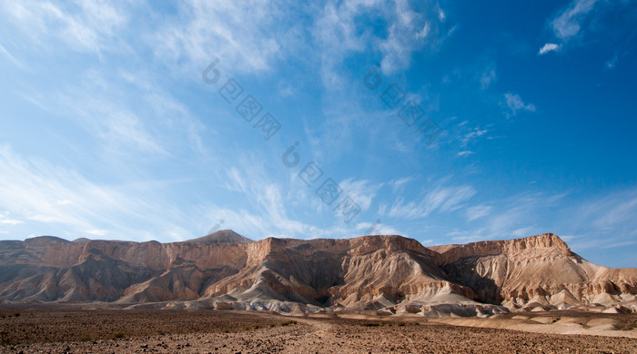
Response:
[{"label": "whole blue sky streaked with wispy clouds above the ridge", "polygon": [[634,1],[4,1],[0,239],[555,232],[635,267],[635,34]]}]

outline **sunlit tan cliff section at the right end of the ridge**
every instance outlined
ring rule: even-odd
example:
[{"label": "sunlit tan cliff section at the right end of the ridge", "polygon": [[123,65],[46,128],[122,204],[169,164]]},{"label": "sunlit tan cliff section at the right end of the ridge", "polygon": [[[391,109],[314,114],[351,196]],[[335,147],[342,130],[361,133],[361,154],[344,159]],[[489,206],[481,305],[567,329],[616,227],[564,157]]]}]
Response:
[{"label": "sunlit tan cliff section at the right end of the ridge", "polygon": [[475,300],[503,303],[512,310],[611,306],[632,303],[637,293],[637,270],[592,264],[552,233],[439,250],[441,268],[477,290]]}]

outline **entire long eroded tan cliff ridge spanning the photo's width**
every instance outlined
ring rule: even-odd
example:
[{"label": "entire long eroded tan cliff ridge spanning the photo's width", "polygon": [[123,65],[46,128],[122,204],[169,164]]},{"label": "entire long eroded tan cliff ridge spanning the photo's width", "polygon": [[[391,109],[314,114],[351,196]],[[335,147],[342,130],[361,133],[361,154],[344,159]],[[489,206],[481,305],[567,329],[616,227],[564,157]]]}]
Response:
[{"label": "entire long eroded tan cliff ridge spanning the photo's width", "polygon": [[500,305],[637,309],[636,293],[637,270],[591,264],[551,233],[430,248],[401,236],[250,241],[233,231],[173,243],[0,241],[0,300],[11,302],[486,316]]}]

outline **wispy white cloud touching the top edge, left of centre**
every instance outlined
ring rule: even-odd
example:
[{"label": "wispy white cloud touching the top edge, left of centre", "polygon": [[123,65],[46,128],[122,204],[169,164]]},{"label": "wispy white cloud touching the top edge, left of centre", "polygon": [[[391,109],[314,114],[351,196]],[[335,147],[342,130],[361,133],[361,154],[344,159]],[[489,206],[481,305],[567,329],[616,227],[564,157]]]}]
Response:
[{"label": "wispy white cloud touching the top edge, left of centre", "polygon": [[261,0],[179,2],[179,21],[164,22],[148,36],[149,44],[171,67],[186,61],[187,69],[203,70],[218,58],[225,71],[267,71],[289,35],[289,28],[279,26],[287,5]]}]

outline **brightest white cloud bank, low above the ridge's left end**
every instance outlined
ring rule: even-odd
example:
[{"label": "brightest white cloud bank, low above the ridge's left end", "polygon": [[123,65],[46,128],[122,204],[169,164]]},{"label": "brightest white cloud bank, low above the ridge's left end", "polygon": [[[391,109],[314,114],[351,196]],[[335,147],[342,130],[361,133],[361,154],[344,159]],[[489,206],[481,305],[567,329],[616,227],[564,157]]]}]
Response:
[{"label": "brightest white cloud bank, low above the ridge's left end", "polygon": [[[30,230],[44,222],[50,224],[46,230],[61,227],[75,235],[105,230],[119,238],[157,239],[167,235],[164,231],[191,236],[177,226],[177,222],[192,222],[187,215],[157,201],[156,190],[151,195],[144,191],[147,189],[97,185],[78,172],[41,159],[23,158],[8,147],[0,147],[0,208],[20,216]],[[60,201],[73,202],[60,205]],[[156,232],[136,229],[139,224],[153,225]]]}]

